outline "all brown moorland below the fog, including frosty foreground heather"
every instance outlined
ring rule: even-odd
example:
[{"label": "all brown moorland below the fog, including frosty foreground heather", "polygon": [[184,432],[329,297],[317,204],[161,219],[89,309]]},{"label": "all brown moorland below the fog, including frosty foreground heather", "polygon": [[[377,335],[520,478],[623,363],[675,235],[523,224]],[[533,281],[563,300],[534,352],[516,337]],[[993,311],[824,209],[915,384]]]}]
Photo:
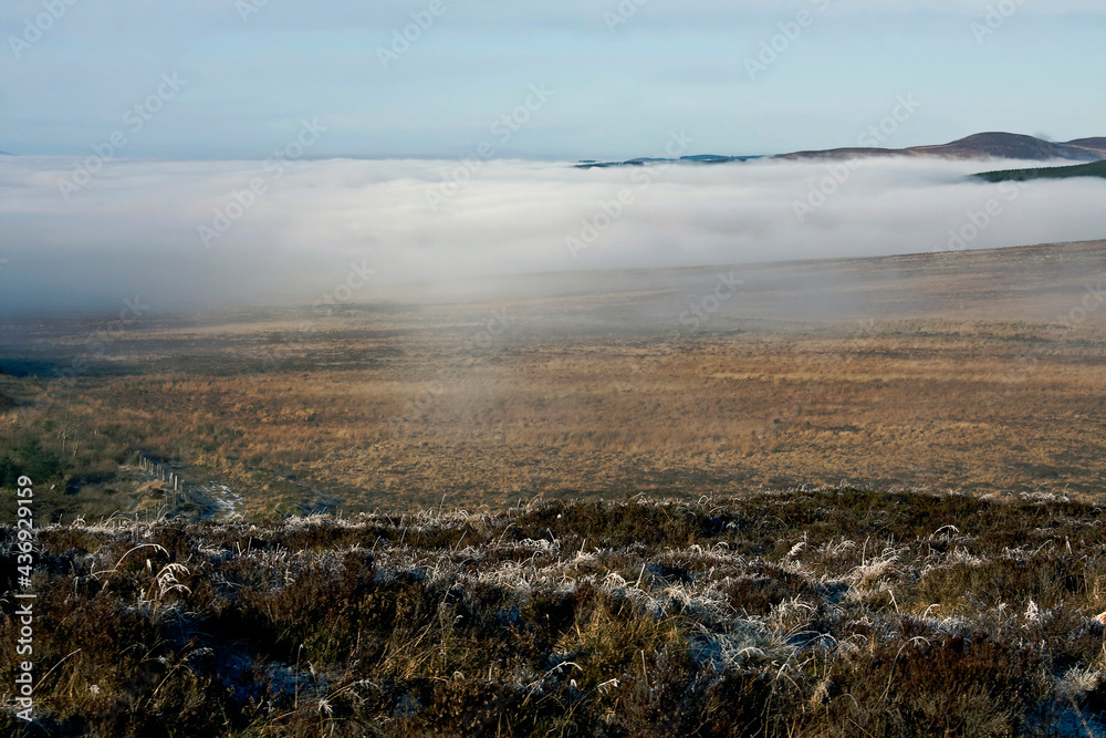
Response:
[{"label": "all brown moorland below the fog, including frosty foreground heather", "polygon": [[8,321],[0,673],[27,475],[39,711],[0,685],[0,731],[1103,735],[1104,274],[1088,242]]}]

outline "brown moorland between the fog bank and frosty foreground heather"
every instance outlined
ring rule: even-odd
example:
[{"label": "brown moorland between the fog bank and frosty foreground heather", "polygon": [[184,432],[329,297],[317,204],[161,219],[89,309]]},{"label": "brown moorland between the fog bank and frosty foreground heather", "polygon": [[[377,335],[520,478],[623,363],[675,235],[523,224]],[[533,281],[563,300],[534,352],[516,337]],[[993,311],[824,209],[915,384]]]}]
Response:
[{"label": "brown moorland between the fog bank and frosty foreground heather", "polygon": [[[718,272],[742,284],[711,303]],[[42,503],[65,521],[156,516],[166,492],[138,454],[189,489],[231,490],[241,512],[842,481],[1093,500],[1103,273],[1106,248],[1088,243],[161,316],[69,384],[50,377],[95,324],[39,321],[9,326],[0,354],[0,462],[54,478]]]}]

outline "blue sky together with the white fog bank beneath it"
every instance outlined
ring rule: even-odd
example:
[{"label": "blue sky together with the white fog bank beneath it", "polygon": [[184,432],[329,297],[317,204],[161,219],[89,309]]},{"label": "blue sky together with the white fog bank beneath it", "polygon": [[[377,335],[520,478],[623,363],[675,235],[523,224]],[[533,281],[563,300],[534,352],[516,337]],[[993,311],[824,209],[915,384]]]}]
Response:
[{"label": "blue sky together with the white fog bank beneath it", "polygon": [[4,0],[0,316],[1103,238],[1106,181],[967,179],[1011,162],[570,163],[1102,136],[1104,31],[1100,0]]}]

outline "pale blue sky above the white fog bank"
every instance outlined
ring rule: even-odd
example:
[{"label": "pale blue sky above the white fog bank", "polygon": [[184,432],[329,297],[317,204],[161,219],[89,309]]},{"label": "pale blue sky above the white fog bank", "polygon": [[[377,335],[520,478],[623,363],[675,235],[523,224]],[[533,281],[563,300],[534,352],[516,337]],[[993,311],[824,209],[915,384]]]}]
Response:
[{"label": "pale blue sky above the white fog bank", "polygon": [[[0,8],[0,150],[80,155],[122,132],[126,157],[264,158],[317,119],[312,157],[451,158],[491,142],[495,156],[615,158],[655,154],[674,131],[698,153],[778,153],[854,144],[906,94],[922,107],[889,146],[1106,135],[1106,3],[1089,0],[1004,0],[1016,10],[982,39],[987,1],[626,0],[612,15],[616,0],[441,0],[387,69],[379,50],[435,0],[67,1]],[[29,33],[51,2],[59,18]],[[778,59],[751,74],[773,37]],[[163,75],[179,91],[134,131],[124,116]],[[493,136],[532,85],[552,95]]]}]

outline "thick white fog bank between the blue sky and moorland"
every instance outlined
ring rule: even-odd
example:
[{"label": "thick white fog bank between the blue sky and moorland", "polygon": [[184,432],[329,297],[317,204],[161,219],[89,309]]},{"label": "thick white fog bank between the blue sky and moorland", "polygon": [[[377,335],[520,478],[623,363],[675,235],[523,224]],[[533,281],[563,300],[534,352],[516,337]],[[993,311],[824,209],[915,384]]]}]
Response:
[{"label": "thick white fog bank between the blue sky and moorland", "polygon": [[0,310],[312,300],[351,264],[375,272],[352,298],[368,301],[483,274],[1074,241],[1102,236],[1106,196],[966,179],[987,162],[118,162],[80,187],[72,158],[9,157]]}]

